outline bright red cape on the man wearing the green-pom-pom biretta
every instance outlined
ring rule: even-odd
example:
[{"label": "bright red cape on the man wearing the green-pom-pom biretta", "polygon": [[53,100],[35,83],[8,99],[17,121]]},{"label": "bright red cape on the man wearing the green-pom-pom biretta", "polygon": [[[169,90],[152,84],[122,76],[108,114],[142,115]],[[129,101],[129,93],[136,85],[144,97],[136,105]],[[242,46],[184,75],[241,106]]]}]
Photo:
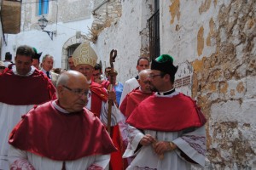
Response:
[{"label": "bright red cape on the man wearing the green-pom-pom biretta", "polygon": [[172,98],[153,95],[144,99],[127,122],[139,129],[177,132],[188,127],[201,127],[207,120],[194,100],[177,94]]}]

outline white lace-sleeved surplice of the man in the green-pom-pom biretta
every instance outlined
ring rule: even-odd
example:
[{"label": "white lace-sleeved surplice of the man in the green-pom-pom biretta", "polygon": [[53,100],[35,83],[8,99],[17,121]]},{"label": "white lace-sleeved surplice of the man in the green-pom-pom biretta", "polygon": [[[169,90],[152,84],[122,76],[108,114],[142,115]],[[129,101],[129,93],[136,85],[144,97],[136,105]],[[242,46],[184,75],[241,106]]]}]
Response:
[{"label": "white lace-sleeved surplice of the man in the green-pom-pom biretta", "polygon": [[131,165],[127,170],[133,169],[157,169],[157,170],[180,170],[190,169],[191,163],[185,161],[180,156],[182,150],[193,161],[196,161],[199,165],[204,167],[205,163],[205,127],[197,128],[191,133],[182,132],[156,132],[152,130],[145,130],[145,134],[150,134],[160,141],[172,141],[177,145],[179,150],[172,152],[166,152],[164,159],[161,160],[160,156],[154,153],[151,145],[143,146],[140,150],[137,150],[139,141],[143,138],[143,133],[137,130],[135,127],[129,126],[129,144],[125,150],[123,157],[136,156],[131,162]]}]

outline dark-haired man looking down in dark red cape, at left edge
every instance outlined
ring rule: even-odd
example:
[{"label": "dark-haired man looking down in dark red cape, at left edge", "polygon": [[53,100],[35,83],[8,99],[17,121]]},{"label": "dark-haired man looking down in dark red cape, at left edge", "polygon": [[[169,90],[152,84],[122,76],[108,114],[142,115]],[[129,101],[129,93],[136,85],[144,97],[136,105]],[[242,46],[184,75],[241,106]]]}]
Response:
[{"label": "dark-haired man looking down in dark red cape, at left edge", "polygon": [[22,115],[50,99],[55,88],[44,73],[32,66],[34,51],[29,46],[17,48],[15,65],[0,75],[0,169],[9,169],[7,154],[10,131]]}]

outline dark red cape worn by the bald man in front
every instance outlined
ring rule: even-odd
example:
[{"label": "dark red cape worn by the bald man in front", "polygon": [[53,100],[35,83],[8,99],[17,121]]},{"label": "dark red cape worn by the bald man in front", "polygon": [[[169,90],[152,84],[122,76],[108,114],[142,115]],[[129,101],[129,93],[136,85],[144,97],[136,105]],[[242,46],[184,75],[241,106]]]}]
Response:
[{"label": "dark red cape worn by the bald man in front", "polygon": [[22,116],[10,134],[9,144],[57,161],[106,155],[116,150],[104,125],[93,113],[84,109],[64,114],[54,108],[52,101]]}]

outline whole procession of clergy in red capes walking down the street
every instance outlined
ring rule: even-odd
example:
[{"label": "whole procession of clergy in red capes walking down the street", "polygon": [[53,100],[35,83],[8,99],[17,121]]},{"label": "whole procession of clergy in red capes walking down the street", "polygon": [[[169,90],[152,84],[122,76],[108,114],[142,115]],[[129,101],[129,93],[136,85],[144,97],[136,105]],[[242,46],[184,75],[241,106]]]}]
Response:
[{"label": "whole procession of clergy in red capes walking down the street", "polygon": [[97,55],[88,42],[56,82],[32,65],[37,55],[20,46],[15,64],[0,73],[1,170],[204,167],[207,120],[194,99],[174,88],[171,55],[151,64],[138,58],[138,76],[124,87],[113,68],[96,81]]}]

